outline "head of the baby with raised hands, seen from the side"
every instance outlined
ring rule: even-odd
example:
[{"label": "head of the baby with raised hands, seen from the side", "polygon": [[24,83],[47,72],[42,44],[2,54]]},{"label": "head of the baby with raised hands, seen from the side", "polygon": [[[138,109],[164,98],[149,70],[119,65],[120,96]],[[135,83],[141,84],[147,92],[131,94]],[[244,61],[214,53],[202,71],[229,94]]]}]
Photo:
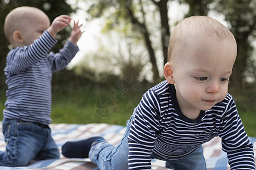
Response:
[{"label": "head of the baby with raised hands, seen from the side", "polygon": [[30,45],[49,27],[48,16],[38,8],[17,7],[5,18],[6,39],[16,46]]}]

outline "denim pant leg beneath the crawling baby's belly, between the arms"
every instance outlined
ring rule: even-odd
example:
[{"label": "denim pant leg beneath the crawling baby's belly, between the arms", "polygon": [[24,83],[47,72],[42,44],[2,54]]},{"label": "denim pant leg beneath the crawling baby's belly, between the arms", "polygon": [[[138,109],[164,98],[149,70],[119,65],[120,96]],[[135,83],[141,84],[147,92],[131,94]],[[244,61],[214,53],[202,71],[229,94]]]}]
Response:
[{"label": "denim pant leg beneath the crawling baby's belly, between the arms", "polygon": [[203,146],[200,146],[191,155],[181,160],[167,160],[166,167],[174,170],[206,170]]}]

